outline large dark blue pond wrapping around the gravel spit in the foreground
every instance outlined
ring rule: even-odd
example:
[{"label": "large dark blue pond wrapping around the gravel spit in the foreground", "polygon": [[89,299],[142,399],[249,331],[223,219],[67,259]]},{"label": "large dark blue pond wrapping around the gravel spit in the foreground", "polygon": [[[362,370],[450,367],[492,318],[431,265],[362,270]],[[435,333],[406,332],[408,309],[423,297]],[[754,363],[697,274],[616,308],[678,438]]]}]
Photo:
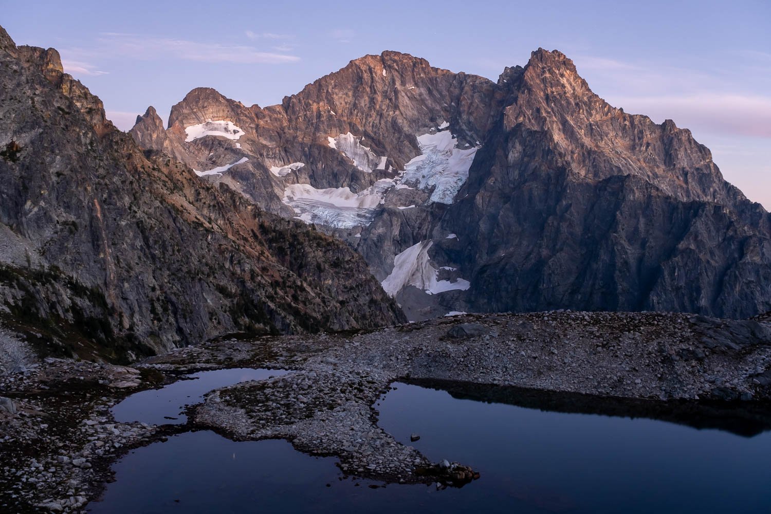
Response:
[{"label": "large dark blue pond wrapping around the gravel spit in the foreground", "polygon": [[[91,512],[771,508],[771,432],[763,409],[736,414],[693,404],[650,408],[503,388],[443,385],[451,395],[394,386],[375,407],[380,425],[429,459],[472,465],[481,472],[479,480],[441,491],[426,485],[370,489],[373,482],[342,479],[335,459],[303,455],[285,441],[232,442],[213,432],[188,432],[116,463],[116,482],[102,502],[90,504]],[[412,432],[419,441],[409,442]]]}]

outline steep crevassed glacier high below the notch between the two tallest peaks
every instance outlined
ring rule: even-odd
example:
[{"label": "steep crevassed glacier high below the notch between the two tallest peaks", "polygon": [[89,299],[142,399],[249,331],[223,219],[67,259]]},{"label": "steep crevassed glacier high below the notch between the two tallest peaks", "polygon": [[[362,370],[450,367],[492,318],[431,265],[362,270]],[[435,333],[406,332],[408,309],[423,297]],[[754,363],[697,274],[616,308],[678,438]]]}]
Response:
[{"label": "steep crevassed glacier high below the notch between the two tallest peaks", "polygon": [[[449,126],[443,123],[440,128]],[[434,187],[431,201],[453,203],[458,191],[469,177],[479,146],[456,148],[458,140],[449,130],[418,136],[421,155],[404,165],[401,183],[415,183],[419,189]]]}]

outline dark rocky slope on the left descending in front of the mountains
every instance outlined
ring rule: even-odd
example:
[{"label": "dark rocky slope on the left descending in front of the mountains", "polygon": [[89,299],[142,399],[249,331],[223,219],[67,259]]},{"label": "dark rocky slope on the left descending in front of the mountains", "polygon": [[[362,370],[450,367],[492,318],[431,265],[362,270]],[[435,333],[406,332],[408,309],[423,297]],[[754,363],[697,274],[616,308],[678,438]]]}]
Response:
[{"label": "dark rocky slope on the left descending in front of the mountains", "polygon": [[[49,350],[120,359],[402,321],[342,241],[143,153],[55,50],[2,31],[0,60],[0,317],[44,328]],[[153,109],[143,120],[143,143],[171,139]]]}]

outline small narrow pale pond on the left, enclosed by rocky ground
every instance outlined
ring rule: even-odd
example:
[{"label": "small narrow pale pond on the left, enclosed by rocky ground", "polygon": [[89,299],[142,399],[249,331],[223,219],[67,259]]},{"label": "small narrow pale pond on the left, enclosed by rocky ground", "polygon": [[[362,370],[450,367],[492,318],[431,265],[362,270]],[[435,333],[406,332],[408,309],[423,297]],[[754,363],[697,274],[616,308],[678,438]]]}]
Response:
[{"label": "small narrow pale pond on the left, enclosed by rocky ground", "polygon": [[148,425],[178,425],[187,422],[185,405],[200,403],[207,392],[250,380],[286,375],[289,371],[262,368],[231,368],[199,371],[160,389],[131,395],[113,407],[116,421]]}]

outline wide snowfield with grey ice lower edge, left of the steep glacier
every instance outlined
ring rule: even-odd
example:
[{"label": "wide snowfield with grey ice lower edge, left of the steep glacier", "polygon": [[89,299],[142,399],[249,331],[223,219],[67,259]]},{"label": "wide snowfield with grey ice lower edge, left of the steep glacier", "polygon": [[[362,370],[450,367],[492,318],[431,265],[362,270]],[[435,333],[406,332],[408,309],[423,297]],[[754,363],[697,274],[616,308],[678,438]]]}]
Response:
[{"label": "wide snowfield with grey ice lower edge, left of the steep glacier", "polygon": [[290,184],[284,190],[284,203],[305,223],[335,228],[364,227],[372,223],[385,191],[391,187],[391,179],[378,180],[361,193],[352,193],[348,187],[318,190],[310,184]]}]

